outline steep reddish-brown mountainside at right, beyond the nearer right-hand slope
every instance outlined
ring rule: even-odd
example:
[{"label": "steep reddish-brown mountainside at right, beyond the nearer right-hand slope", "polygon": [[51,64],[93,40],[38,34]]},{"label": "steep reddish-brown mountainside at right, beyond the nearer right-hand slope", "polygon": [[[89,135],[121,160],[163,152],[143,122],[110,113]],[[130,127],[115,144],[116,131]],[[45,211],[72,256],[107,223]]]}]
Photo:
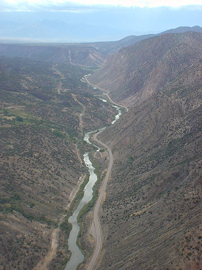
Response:
[{"label": "steep reddish-brown mountainside at right, beyond the nearer right-hand slope", "polygon": [[196,32],[149,38],[110,56],[89,81],[122,104],[138,104],[201,59],[201,42],[202,34]]}]

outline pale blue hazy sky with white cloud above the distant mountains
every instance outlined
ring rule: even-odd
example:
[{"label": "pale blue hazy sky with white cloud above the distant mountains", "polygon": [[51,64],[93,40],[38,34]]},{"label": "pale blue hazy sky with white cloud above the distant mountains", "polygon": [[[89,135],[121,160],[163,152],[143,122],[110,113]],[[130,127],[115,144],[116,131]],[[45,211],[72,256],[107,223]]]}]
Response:
[{"label": "pale blue hazy sky with white cloud above the distant mountains", "polygon": [[28,25],[41,20],[106,27],[106,33],[111,28],[116,34],[109,31],[106,40],[117,40],[130,34],[202,26],[202,0],[0,0],[0,22]]}]

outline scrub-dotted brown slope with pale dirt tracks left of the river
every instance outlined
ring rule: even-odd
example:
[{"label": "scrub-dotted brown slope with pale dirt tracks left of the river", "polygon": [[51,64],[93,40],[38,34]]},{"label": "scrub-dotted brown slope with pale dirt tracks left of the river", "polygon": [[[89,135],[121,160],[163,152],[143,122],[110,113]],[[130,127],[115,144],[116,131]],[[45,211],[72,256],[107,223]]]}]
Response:
[{"label": "scrub-dotted brown slope with pale dirt tracks left of the river", "polygon": [[0,268],[56,269],[70,255],[65,210],[86,175],[83,132],[114,112],[80,81],[88,69],[0,62]]}]

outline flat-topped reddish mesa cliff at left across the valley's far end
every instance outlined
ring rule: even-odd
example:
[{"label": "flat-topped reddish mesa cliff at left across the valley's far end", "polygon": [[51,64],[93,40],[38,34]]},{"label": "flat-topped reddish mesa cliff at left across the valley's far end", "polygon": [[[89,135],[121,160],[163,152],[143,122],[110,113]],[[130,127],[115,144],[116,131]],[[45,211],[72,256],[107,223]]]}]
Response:
[{"label": "flat-topped reddish mesa cliff at left across the valley's far end", "polygon": [[82,45],[13,45],[0,44],[0,55],[25,57],[37,61],[73,65],[100,65],[105,54],[88,44]]}]

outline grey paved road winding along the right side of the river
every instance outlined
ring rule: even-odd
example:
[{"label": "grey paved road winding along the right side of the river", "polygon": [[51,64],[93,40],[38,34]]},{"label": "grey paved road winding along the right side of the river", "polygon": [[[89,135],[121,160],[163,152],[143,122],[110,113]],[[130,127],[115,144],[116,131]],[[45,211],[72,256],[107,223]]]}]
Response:
[{"label": "grey paved road winding along the right side of the river", "polygon": [[[100,90],[102,90],[102,91],[104,91],[104,92],[107,92],[106,96],[109,98],[109,100],[110,100],[113,104],[115,104],[115,105],[117,105],[117,106],[120,106],[120,107],[123,107],[123,108],[126,109],[126,111],[128,111],[128,108],[126,108],[125,106],[122,106],[122,105],[119,105],[119,104],[115,103],[115,102],[111,99],[111,97],[109,96],[109,91],[104,90],[104,89],[102,89],[102,88],[97,87],[96,85],[93,85],[93,84],[89,83],[89,81],[88,81],[87,78],[85,78],[85,80],[86,80],[86,82],[87,82],[89,85],[91,85],[91,86],[93,86],[93,87],[96,87],[96,88],[98,88],[98,89],[100,89]],[[97,135],[100,134],[100,133],[102,133],[103,131],[104,131],[104,130],[101,130],[101,131],[97,132],[97,133],[94,135],[94,139],[95,139],[99,144],[101,144],[101,145],[103,145],[105,148],[107,148],[107,150],[109,151],[109,154],[110,154],[110,163],[109,163],[109,167],[108,167],[108,170],[107,170],[107,174],[106,174],[106,176],[105,176],[105,180],[104,180],[104,183],[103,183],[103,186],[102,186],[102,190],[101,190],[101,192],[100,192],[100,194],[99,194],[99,197],[98,197],[98,199],[97,199],[96,205],[95,205],[94,210],[93,210],[93,222],[94,222],[95,233],[96,233],[96,247],[95,247],[93,256],[92,256],[92,258],[91,258],[91,261],[90,261],[90,263],[89,263],[89,265],[88,265],[87,270],[91,270],[91,269],[92,269],[92,267],[93,267],[93,265],[94,265],[94,263],[95,263],[95,261],[96,261],[98,255],[99,255],[99,252],[100,252],[100,250],[101,250],[101,247],[102,247],[102,233],[101,233],[101,228],[100,228],[99,219],[98,219],[98,211],[99,211],[99,206],[100,206],[100,204],[101,204],[101,202],[102,202],[103,195],[104,195],[104,192],[105,192],[105,189],[106,189],[106,186],[107,186],[109,177],[110,177],[110,173],[111,173],[111,170],[112,170],[112,166],[113,166],[113,155],[112,155],[112,151],[111,151],[110,147],[107,146],[104,142],[99,141],[99,140],[97,139]]]}]

